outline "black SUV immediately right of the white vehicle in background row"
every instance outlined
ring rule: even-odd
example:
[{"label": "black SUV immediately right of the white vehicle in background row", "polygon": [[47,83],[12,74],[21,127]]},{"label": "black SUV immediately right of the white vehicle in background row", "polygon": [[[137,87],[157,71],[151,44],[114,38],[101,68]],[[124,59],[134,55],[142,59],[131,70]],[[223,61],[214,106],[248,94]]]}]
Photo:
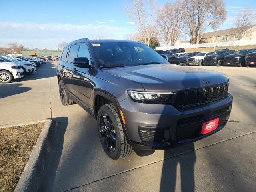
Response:
[{"label": "black SUV immediately right of the white vehicle in background row", "polygon": [[204,57],[203,64],[205,66],[223,66],[224,57],[234,52],[235,50],[216,50],[213,54]]}]

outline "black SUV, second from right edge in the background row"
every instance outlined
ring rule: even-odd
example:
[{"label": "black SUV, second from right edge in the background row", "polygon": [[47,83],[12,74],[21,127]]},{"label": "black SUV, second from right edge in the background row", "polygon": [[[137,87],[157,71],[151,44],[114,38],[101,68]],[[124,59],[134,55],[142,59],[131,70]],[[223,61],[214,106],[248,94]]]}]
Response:
[{"label": "black SUV, second from right edge in the background row", "polygon": [[241,49],[234,52],[231,55],[224,57],[224,66],[240,66],[245,67],[245,56],[249,53],[256,52],[256,48],[254,49]]}]

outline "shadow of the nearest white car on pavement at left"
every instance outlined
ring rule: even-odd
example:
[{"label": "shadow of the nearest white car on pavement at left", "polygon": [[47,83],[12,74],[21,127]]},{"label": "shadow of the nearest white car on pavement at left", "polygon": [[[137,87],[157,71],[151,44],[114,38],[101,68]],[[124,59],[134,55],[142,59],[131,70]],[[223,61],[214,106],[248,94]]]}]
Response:
[{"label": "shadow of the nearest white car on pavement at left", "polygon": [[22,85],[21,83],[0,84],[0,99],[31,90],[30,87],[20,87]]}]

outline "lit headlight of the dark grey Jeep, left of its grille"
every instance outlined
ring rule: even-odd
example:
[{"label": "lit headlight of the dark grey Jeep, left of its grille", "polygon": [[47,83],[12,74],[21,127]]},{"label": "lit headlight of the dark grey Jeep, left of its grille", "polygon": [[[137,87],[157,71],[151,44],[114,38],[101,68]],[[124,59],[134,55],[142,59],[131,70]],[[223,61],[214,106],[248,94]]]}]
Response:
[{"label": "lit headlight of the dark grey Jeep, left of its grille", "polygon": [[140,92],[128,90],[130,98],[136,102],[166,102],[172,98],[173,92]]}]

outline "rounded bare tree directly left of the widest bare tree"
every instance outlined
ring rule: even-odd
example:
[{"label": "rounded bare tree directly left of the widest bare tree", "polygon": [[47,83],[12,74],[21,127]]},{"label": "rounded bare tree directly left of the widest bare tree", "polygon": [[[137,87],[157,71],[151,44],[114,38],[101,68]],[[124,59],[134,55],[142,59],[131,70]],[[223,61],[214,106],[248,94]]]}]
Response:
[{"label": "rounded bare tree directly left of the widest bare tree", "polygon": [[159,37],[168,46],[175,44],[181,30],[184,28],[184,16],[181,9],[182,2],[168,2],[158,10],[157,25]]}]

